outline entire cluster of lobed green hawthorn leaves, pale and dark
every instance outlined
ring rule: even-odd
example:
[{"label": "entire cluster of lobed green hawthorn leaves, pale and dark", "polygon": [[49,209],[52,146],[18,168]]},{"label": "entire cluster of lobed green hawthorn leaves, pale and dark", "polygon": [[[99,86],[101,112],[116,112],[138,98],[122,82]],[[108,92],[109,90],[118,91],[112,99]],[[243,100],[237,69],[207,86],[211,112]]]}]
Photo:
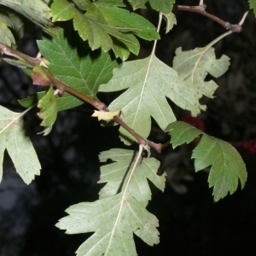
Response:
[{"label": "entire cluster of lobed green hawthorn leaves, pale and dark", "polygon": [[[188,110],[192,116],[198,115],[201,110],[206,109],[200,103],[201,97],[212,98],[218,87],[212,79],[206,80],[207,75],[218,78],[230,65],[229,57],[222,55],[217,59],[212,48],[223,36],[203,48],[190,51],[177,49],[173,67],[160,61],[154,54],[154,49],[160,39],[161,17],[166,18],[166,32],[169,32],[176,24],[172,14],[174,2],[54,0],[49,5],[49,1],[41,0],[0,0],[0,41],[14,47],[15,38],[23,36],[23,20],[26,17],[48,33],[38,41],[38,48],[49,63],[49,67],[46,67],[47,61],[43,59],[40,65],[46,68],[32,67],[28,65],[30,63],[22,66],[26,73],[32,74],[35,84],[46,88],[46,91],[20,100],[20,104],[28,108],[24,113],[13,113],[0,108],[1,168],[6,149],[20,177],[30,183],[34,175],[39,174],[41,167],[32,143],[23,131],[23,115],[37,106],[38,117],[42,119],[41,125],[44,126],[43,133],[47,135],[59,111],[83,103],[72,93],[65,92],[63,96],[59,96],[53,87],[55,82],[47,75],[50,73],[55,81],[67,84],[80,95],[91,99],[97,100],[99,91],[108,93],[125,90],[108,106],[111,113],[107,119],[112,119],[121,112],[119,118],[125,125],[145,139],[151,129],[151,118],[155,119],[163,131],[172,134],[173,148],[200,137],[201,141],[192,154],[195,172],[212,166],[208,182],[213,187],[214,201],[228,193],[234,193],[239,181],[242,188],[247,180],[247,172],[236,149],[191,125],[176,121],[168,102],[170,100],[178,107]],[[255,12],[255,2],[249,3]],[[145,8],[160,13],[158,29],[132,11]],[[75,36],[68,35],[55,25],[56,21],[60,24],[60,21],[67,20],[72,20],[73,30],[77,32]],[[130,53],[139,53],[138,38],[154,40],[151,54],[141,60],[126,61]],[[4,53],[9,55],[9,51]],[[26,62],[22,56],[18,57]],[[20,67],[18,61],[12,61],[12,64]],[[99,113],[95,116],[106,119],[106,115]],[[124,126],[120,127],[119,133],[124,143],[134,143],[135,138]],[[146,210],[151,199],[148,180],[163,191],[165,174],[157,175],[160,163],[154,158],[145,158],[143,146],[145,145],[140,145],[138,153],[121,148],[102,152],[101,162],[108,159],[113,162],[101,168],[99,183],[106,185],[100,191],[99,200],[69,207],[69,215],[56,224],[69,234],[95,232],[79,247],[78,255],[136,255],[133,233],[148,245],[159,242],[156,229],[158,220]]]}]

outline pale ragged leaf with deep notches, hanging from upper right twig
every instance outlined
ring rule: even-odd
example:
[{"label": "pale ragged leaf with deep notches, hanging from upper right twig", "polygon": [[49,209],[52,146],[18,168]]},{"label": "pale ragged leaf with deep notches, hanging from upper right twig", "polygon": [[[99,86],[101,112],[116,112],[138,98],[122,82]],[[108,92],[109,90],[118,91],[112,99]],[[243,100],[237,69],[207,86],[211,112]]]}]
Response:
[{"label": "pale ragged leaf with deep notches, hanging from upper right twig", "polygon": [[217,60],[214,49],[208,46],[189,51],[182,51],[181,48],[178,48],[173,60],[173,69],[179,73],[180,78],[188,86],[195,87],[198,98],[203,95],[212,98],[218,87],[213,80],[205,81],[207,74],[210,73],[213,77],[218,78],[228,70],[229,66],[230,58],[228,56],[222,55]]}]

